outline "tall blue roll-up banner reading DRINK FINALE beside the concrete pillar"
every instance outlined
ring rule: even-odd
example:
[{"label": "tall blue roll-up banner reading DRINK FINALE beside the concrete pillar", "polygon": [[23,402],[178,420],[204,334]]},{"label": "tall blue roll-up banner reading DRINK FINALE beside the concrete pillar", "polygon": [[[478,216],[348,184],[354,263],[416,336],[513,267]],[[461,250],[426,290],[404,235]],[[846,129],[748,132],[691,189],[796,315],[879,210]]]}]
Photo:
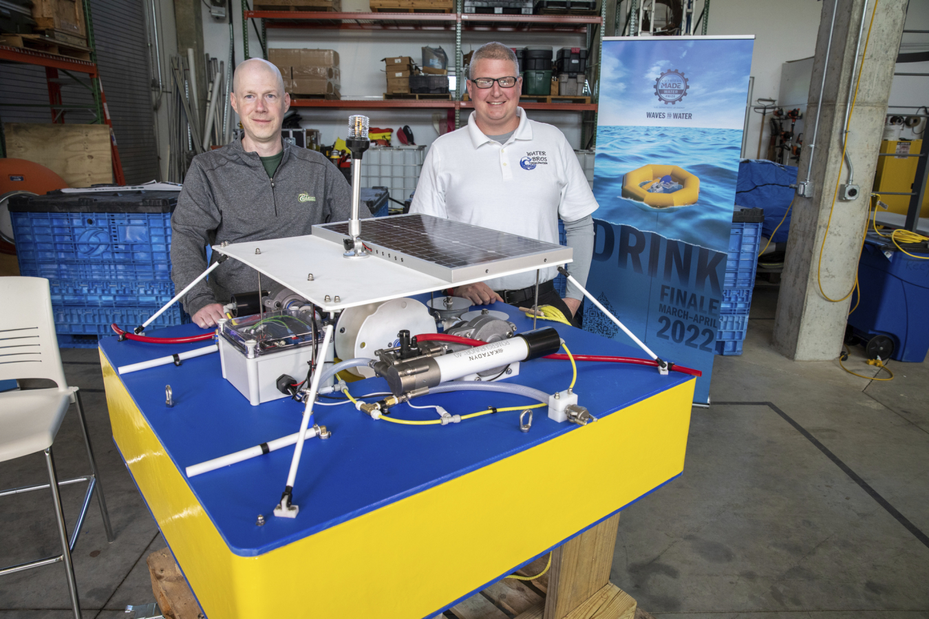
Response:
[{"label": "tall blue roll-up banner reading DRINK FINALE beside the concrete pillar", "polygon": [[[753,36],[603,40],[587,288],[665,361],[710,378]],[[635,346],[586,303],[584,329]]]}]

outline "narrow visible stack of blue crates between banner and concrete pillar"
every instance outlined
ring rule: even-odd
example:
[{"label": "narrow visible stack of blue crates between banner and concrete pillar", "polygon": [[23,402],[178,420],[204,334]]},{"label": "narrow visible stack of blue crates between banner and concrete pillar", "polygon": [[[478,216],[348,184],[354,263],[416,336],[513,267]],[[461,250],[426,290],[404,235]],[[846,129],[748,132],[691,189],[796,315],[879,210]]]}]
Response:
[{"label": "narrow visible stack of blue crates between banner and concrete pillar", "polygon": [[742,354],[742,342],[749,328],[749,308],[752,306],[752,288],[764,223],[764,209],[741,209],[732,215],[716,355]]}]

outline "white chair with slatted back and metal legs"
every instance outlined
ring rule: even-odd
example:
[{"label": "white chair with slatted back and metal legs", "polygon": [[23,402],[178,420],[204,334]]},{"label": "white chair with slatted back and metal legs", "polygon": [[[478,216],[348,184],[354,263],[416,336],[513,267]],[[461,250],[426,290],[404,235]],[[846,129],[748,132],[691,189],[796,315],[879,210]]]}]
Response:
[{"label": "white chair with slatted back and metal legs", "polygon": [[[58,556],[11,565],[0,569],[0,575],[64,561],[74,616],[80,619],[81,605],[77,595],[77,584],[74,582],[71,552],[77,542],[77,536],[81,533],[87,508],[90,506],[90,497],[95,490],[107,539],[110,542],[114,539],[110,515],[107,513],[103,490],[99,485],[97,462],[94,460],[90,437],[87,434],[84,406],[81,405],[78,388],[69,387],[64,378],[58,340],[55,337],[48,280],[41,277],[0,277],[0,299],[3,299],[3,303],[0,303],[0,380],[50,379],[58,385],[48,389],[0,393],[0,462],[44,451],[48,470],[48,484],[11,488],[0,491],[0,496],[51,489],[61,540],[61,554]],[[59,482],[55,472],[55,460],[52,458],[52,443],[55,442],[61,419],[71,404],[76,405],[77,415],[81,420],[91,474]],[[69,540],[64,513],[61,510],[59,486],[80,482],[87,482],[87,492]]]}]

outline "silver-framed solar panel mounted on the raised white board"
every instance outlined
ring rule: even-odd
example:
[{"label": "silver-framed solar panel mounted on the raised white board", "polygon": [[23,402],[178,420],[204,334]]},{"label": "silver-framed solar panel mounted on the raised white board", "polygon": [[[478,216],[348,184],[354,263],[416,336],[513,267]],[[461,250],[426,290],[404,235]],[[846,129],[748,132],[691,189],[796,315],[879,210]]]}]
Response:
[{"label": "silver-framed solar panel mounted on the raised white board", "polygon": [[[313,226],[313,236],[342,243],[348,223]],[[457,283],[504,271],[570,262],[572,251],[555,243],[413,213],[361,220],[373,257]]]}]

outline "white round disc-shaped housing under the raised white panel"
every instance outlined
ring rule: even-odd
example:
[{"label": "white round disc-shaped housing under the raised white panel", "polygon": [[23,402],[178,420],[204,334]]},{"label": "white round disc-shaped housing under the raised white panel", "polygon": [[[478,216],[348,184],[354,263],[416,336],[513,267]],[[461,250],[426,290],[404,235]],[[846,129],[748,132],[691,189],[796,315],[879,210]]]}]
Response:
[{"label": "white round disc-shaped housing under the raised white panel", "polygon": [[[349,307],[335,327],[335,354],[340,359],[376,359],[374,351],[399,346],[401,329],[410,331],[411,336],[435,333],[436,319],[423,303],[409,298]],[[374,370],[367,366],[348,371],[365,379],[374,376]]]}]

